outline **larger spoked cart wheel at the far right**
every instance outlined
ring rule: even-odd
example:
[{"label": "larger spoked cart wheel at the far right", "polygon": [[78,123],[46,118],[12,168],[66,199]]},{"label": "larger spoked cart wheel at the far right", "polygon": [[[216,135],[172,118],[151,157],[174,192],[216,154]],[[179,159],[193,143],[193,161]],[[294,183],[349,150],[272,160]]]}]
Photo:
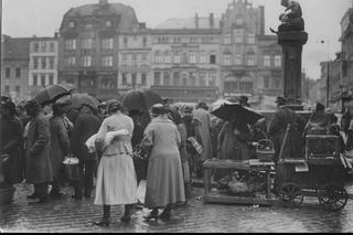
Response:
[{"label": "larger spoked cart wheel at the far right", "polygon": [[328,183],[321,190],[318,190],[318,199],[324,210],[336,212],[345,206],[349,194],[344,188]]}]

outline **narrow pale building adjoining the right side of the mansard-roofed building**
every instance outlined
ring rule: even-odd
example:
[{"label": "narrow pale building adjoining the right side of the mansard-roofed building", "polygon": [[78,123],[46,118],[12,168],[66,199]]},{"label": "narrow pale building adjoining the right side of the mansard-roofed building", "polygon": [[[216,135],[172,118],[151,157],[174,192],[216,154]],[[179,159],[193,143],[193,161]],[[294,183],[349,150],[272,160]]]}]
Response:
[{"label": "narrow pale building adjoining the right side of the mansard-roofed building", "polygon": [[133,88],[148,88],[151,84],[151,40],[145,23],[133,31],[121,32],[119,36],[120,94]]}]

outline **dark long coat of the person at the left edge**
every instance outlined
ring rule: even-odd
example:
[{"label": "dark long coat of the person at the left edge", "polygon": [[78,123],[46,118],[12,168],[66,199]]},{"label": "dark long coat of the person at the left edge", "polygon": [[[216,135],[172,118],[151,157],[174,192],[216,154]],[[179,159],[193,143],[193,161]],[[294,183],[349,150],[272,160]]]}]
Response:
[{"label": "dark long coat of the person at the left edge", "polygon": [[4,178],[8,183],[20,183],[23,180],[23,127],[17,117],[1,118],[1,153],[10,154],[4,163]]}]

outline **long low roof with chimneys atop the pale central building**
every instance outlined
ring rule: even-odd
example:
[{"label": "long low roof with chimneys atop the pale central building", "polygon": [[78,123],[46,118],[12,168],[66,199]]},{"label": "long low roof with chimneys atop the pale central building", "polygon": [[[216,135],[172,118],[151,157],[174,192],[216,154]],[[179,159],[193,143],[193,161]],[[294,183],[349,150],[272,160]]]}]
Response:
[{"label": "long low roof with chimneys atop the pale central building", "polygon": [[214,18],[214,28],[210,25],[210,18],[199,18],[199,28],[196,28],[195,18],[173,18],[168,19],[156,29],[220,29],[220,18]]}]

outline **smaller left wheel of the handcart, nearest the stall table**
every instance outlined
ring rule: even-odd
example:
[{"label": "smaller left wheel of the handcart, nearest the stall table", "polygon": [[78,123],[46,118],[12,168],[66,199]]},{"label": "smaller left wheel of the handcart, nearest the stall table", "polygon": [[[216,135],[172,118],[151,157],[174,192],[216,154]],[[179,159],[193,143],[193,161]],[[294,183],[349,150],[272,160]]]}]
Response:
[{"label": "smaller left wheel of the handcart, nearest the stall table", "polygon": [[301,186],[297,183],[286,183],[279,190],[279,199],[287,205],[300,206],[304,196]]}]

